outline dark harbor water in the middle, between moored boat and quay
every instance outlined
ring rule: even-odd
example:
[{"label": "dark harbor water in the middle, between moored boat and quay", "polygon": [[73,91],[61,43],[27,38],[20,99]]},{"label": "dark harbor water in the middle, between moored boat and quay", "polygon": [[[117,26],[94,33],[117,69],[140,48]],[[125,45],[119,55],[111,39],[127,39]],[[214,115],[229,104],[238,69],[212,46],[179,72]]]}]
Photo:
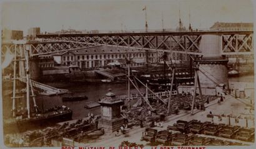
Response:
[{"label": "dark harbor water in the middle, between moored boat and quay", "polygon": [[[84,101],[70,101],[63,102],[62,97],[67,96],[66,94],[57,96],[42,96],[36,97],[37,105],[39,108],[48,109],[54,106],[65,105],[70,107],[73,111],[72,119],[82,119],[86,117],[88,113],[101,114],[100,107],[86,109],[84,106],[86,102],[97,102],[99,99],[105,96],[105,94],[111,89],[112,93],[119,95],[127,95],[127,83],[122,84],[105,84],[105,83],[47,83],[48,85],[54,86],[56,88],[68,89],[72,92],[73,96],[85,95],[88,97]],[[141,88],[140,91],[145,93],[145,89]],[[131,88],[130,93],[137,93],[137,90]]]}]

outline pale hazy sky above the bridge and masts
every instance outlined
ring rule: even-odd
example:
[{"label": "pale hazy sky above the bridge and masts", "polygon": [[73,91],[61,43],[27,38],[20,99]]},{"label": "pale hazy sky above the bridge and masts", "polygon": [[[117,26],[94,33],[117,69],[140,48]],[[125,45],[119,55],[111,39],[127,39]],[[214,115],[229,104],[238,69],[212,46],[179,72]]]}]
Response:
[{"label": "pale hazy sky above the bridge and masts", "polygon": [[1,3],[1,26],[25,35],[31,27],[41,27],[41,32],[145,29],[145,6],[149,30],[162,29],[162,19],[165,29],[175,29],[179,16],[194,29],[209,29],[217,21],[254,22],[252,0],[23,0]]}]

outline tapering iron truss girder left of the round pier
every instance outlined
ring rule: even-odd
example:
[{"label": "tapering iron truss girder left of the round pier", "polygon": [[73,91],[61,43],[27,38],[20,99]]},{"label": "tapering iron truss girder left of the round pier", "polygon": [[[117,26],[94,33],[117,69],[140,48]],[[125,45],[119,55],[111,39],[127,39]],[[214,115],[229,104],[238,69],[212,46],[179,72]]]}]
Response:
[{"label": "tapering iron truss girder left of the round pier", "polygon": [[[201,35],[94,35],[41,37],[44,41],[106,45],[200,55]],[[67,47],[67,45],[66,45]],[[41,49],[37,50],[40,52]]]}]

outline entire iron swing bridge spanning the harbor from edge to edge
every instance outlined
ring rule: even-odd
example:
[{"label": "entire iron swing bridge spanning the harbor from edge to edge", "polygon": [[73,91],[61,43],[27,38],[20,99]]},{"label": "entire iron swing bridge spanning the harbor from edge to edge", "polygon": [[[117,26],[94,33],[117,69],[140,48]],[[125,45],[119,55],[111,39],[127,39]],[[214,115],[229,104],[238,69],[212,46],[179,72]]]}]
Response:
[{"label": "entire iron swing bridge spanning the harbor from edge to edge", "polygon": [[[90,50],[90,48],[93,47],[109,46],[120,47],[121,50],[122,48],[130,48],[155,50],[156,52],[162,53],[205,56],[207,52],[205,53],[205,49],[200,48],[200,43],[202,42],[202,38],[207,35],[215,35],[219,38],[220,47],[217,49],[219,55],[254,55],[253,31],[209,30],[199,32],[40,34],[37,35],[36,40],[23,42],[3,41],[1,54],[2,59],[6,59],[4,55],[6,55],[7,52],[11,53],[11,55],[18,55],[19,60],[28,63],[28,59],[34,56],[50,55],[52,53],[71,50]],[[14,63],[16,63],[16,59]],[[25,67],[25,64],[23,67]],[[28,65],[26,65],[26,69],[20,70],[23,72],[21,76],[29,77]],[[15,79],[14,77],[14,80]],[[27,80],[28,79],[26,79],[27,88],[29,88],[29,81]],[[15,98],[15,95],[13,98]]]}]

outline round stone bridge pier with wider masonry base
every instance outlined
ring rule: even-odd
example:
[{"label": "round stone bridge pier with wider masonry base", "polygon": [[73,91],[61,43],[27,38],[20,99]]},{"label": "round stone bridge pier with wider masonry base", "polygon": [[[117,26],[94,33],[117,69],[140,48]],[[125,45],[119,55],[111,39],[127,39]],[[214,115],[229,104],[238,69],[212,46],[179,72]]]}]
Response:
[{"label": "round stone bridge pier with wider masonry base", "polygon": [[202,35],[200,50],[204,53],[199,62],[199,79],[202,87],[215,88],[219,84],[228,85],[227,62],[229,61],[222,51],[221,35]]}]

